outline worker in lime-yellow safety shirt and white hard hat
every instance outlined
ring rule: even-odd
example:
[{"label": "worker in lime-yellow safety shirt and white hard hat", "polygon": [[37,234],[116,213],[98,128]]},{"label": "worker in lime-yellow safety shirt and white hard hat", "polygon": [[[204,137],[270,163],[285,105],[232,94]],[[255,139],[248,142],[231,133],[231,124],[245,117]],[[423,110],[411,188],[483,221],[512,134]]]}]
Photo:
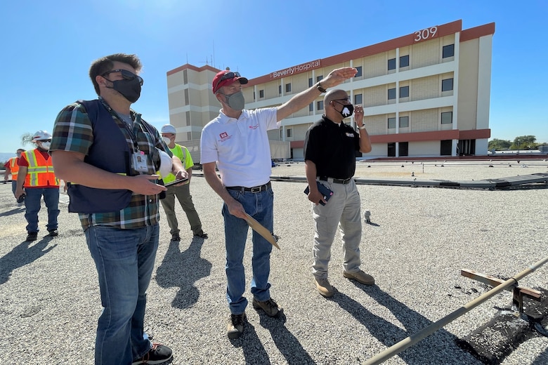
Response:
[{"label": "worker in lime-yellow safety shirt and white hard hat", "polygon": [[[162,126],[162,138],[166,142],[167,147],[171,150],[171,153],[174,156],[181,159],[183,166],[188,172],[188,181],[184,185],[171,185],[167,188],[166,197],[162,199],[162,206],[166,212],[167,223],[169,224],[169,232],[171,232],[171,241],[181,241],[181,236],[179,235],[180,230],[178,228],[178,221],[175,214],[175,197],[181,204],[183,211],[185,211],[186,218],[188,223],[190,223],[190,230],[193,231],[195,237],[202,239],[207,239],[207,233],[204,233],[202,230],[202,222],[196,211],[196,208],[193,203],[193,197],[190,195],[190,178],[193,175],[193,166],[194,161],[188,148],[182,145],[175,143],[176,138],[176,129],[171,124],[166,124]],[[175,175],[169,173],[167,176],[162,176],[165,183],[170,183],[175,180]]]}]

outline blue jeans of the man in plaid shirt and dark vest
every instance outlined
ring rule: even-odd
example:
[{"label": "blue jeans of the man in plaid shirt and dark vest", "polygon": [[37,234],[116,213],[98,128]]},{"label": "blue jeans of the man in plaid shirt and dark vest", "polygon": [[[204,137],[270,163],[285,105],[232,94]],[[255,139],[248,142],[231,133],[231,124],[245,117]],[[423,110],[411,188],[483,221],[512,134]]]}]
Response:
[{"label": "blue jeans of the man in plaid shirt and dark vest", "polygon": [[146,290],[158,248],[159,225],[135,230],[91,226],[86,241],[97,268],[101,313],[96,365],[131,364],[152,344],[143,337]]}]

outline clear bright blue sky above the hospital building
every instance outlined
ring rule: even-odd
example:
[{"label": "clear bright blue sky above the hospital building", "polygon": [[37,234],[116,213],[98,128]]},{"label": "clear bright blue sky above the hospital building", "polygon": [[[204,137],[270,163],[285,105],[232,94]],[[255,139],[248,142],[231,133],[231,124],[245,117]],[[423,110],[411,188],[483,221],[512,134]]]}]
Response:
[{"label": "clear bright blue sky above the hospital building", "polygon": [[93,60],[136,53],[145,80],[133,108],[169,123],[166,72],[186,62],[248,78],[462,19],[495,22],[491,138],[548,142],[548,1],[18,0],[0,2],[0,152],[93,99]]}]

